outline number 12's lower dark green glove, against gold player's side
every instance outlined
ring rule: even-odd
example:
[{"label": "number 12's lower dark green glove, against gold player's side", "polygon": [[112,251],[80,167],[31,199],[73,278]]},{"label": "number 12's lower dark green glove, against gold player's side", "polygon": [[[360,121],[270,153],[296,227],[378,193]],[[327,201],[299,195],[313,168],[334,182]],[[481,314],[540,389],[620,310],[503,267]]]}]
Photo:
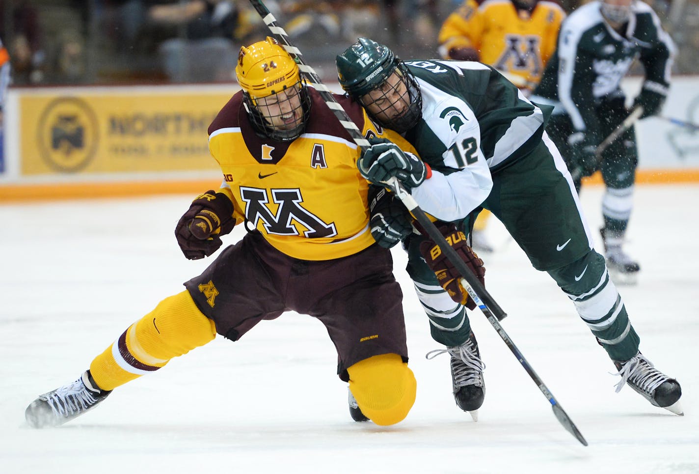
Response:
[{"label": "number 12's lower dark green glove, against gold player's side", "polygon": [[412,215],[396,196],[379,186],[369,187],[369,228],[374,240],[391,248],[412,234]]}]

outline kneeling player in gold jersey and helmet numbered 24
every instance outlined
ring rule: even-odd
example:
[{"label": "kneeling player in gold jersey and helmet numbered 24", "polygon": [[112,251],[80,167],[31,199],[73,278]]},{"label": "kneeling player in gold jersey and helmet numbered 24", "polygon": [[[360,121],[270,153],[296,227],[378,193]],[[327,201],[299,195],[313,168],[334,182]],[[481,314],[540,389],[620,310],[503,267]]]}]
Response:
[{"label": "kneeling player in gold jersey and helmet numbered 24", "polygon": [[[209,127],[224,183],[194,200],[175,236],[185,257],[200,259],[236,224],[245,222],[248,233],[185,282],[185,291],[131,324],[78,380],[36,398],[25,412],[31,426],[63,424],[217,333],[238,340],[288,310],[326,326],[359,413],[380,425],[408,415],[416,382],[402,293],[390,251],[369,231],[359,148],[272,38],[241,48],[236,74],[243,90]],[[364,136],[415,152],[375,127],[359,104],[337,99]]]}]

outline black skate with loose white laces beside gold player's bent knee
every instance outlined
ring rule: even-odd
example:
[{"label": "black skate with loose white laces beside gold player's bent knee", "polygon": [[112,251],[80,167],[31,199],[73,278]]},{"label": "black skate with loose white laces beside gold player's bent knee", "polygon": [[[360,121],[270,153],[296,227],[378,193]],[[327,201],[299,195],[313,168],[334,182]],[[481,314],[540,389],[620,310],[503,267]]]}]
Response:
[{"label": "black skate with loose white laces beside gold player's bent knee", "polygon": [[454,401],[461,410],[471,415],[473,421],[477,422],[478,408],[481,407],[485,398],[485,381],[483,379],[485,364],[480,359],[478,343],[473,332],[462,345],[431,350],[425,357],[433,359],[445,352],[452,356],[449,366],[452,369]]}]

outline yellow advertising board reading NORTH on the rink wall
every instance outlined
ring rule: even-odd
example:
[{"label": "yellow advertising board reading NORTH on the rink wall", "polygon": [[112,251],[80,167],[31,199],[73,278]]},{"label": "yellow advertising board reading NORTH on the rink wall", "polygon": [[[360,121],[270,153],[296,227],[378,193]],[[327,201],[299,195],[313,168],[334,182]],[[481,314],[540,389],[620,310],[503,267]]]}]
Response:
[{"label": "yellow advertising board reading NORTH on the rink wall", "polygon": [[236,89],[23,95],[20,174],[217,170],[207,128]]}]

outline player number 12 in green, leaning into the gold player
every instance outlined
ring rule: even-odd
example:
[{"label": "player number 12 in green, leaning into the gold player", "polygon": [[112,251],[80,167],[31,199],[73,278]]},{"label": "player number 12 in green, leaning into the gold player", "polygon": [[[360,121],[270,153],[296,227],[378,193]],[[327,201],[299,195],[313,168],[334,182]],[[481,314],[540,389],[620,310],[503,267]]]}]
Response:
[{"label": "player number 12 in green, leaning into the gold player", "polygon": [[[639,352],[624,301],[593,249],[570,173],[544,131],[551,108],[528,101],[490,66],[402,62],[368,38],[338,55],[336,64],[345,92],[375,122],[403,134],[421,157],[375,141],[359,159],[362,175],[376,185],[398,178],[422,210],[466,233],[480,208],[491,210],[534,268],[547,271],[572,300],[621,375],[617,392],[628,384],[653,405],[682,414],[679,383]],[[432,336],[452,356],[456,403],[473,409],[479,403],[469,397],[482,403],[483,364],[459,275],[433,258],[433,245],[405,225],[406,213],[398,199],[373,210],[372,234],[384,246],[403,239]],[[454,234],[447,237],[455,249],[463,247]]]}]

